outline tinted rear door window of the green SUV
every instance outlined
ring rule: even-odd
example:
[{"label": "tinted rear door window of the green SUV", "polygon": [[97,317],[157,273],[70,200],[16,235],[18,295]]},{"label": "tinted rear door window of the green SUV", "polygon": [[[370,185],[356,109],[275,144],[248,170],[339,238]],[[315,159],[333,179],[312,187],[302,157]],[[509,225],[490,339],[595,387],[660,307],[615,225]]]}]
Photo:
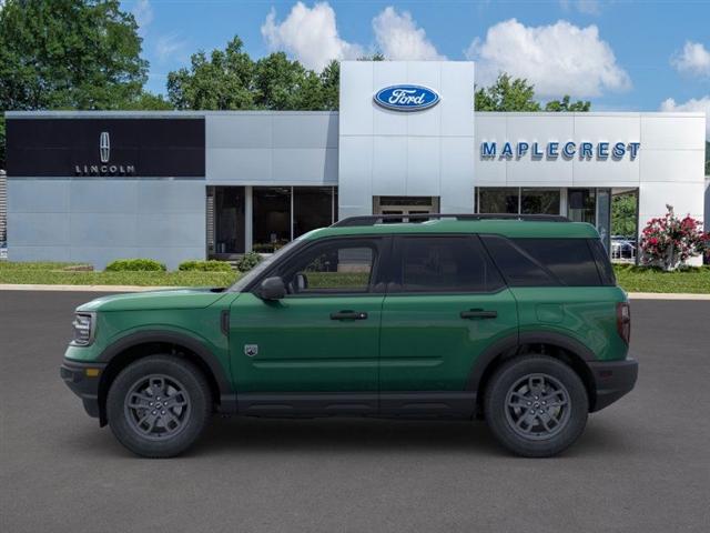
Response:
[{"label": "tinted rear door window of the green SUV", "polygon": [[476,237],[402,237],[397,250],[402,292],[493,292],[504,285]]}]

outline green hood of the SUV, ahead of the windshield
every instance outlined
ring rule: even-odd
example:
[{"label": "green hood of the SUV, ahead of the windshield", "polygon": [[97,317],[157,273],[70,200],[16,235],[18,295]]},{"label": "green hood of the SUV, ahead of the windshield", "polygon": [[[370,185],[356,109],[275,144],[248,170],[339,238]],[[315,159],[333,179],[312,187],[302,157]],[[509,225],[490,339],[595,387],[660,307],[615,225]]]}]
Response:
[{"label": "green hood of the SUV, ahead of the windshield", "polygon": [[98,298],[77,311],[155,311],[161,309],[203,309],[224,296],[223,289],[173,289]]}]

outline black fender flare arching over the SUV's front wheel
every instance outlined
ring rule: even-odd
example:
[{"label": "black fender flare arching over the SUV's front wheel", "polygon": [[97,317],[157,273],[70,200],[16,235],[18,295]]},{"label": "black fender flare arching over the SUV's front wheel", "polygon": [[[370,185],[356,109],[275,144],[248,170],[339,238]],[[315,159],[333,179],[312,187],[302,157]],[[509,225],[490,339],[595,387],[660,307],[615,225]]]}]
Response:
[{"label": "black fender flare arching over the SUV's front wheel", "polygon": [[119,353],[139,344],[148,344],[151,342],[179,344],[195,353],[197,358],[210,369],[210,372],[217,384],[220,411],[231,412],[236,409],[236,394],[234,393],[229,380],[226,369],[203,342],[184,333],[161,330],[143,330],[130,333],[112,344],[109,344],[109,346],[101,352],[97,361],[110,364]]}]

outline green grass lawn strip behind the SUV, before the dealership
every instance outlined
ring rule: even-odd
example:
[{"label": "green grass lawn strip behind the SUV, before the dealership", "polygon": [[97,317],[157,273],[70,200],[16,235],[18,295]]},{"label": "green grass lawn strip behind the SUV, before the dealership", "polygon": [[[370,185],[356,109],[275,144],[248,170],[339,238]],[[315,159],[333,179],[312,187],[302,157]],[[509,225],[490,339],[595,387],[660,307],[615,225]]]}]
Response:
[{"label": "green grass lawn strip behind the SUV, before the dealership", "polygon": [[[226,286],[239,272],[91,272],[73,263],[16,263],[0,261],[0,283],[63,285]],[[617,281],[628,292],[693,292],[710,294],[710,266],[679,272],[615,265]],[[327,275],[327,274],[325,274]],[[361,273],[337,273],[343,283],[359,286]],[[310,273],[313,286],[324,274]],[[331,280],[332,281],[332,280]]]}]

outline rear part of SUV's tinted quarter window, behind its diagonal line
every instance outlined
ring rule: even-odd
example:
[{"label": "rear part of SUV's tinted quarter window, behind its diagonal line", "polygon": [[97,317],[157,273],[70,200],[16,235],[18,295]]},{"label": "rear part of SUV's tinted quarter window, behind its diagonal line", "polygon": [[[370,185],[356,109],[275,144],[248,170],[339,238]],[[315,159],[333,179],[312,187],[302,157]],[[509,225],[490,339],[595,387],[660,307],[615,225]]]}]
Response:
[{"label": "rear part of SUV's tinted quarter window, behind its diagonal line", "polygon": [[565,285],[598,286],[601,284],[597,262],[586,239],[515,239]]}]

